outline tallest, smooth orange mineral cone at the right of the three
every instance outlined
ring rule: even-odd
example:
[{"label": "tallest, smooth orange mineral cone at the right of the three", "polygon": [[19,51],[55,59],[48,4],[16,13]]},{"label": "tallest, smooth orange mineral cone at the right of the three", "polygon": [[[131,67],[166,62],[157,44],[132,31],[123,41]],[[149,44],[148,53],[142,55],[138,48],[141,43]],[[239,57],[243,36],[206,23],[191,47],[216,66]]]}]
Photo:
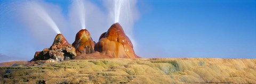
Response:
[{"label": "tallest, smooth orange mineral cone at the right of the three", "polygon": [[107,32],[102,33],[94,49],[111,58],[140,58],[134,53],[131,40],[119,23],[113,24]]}]

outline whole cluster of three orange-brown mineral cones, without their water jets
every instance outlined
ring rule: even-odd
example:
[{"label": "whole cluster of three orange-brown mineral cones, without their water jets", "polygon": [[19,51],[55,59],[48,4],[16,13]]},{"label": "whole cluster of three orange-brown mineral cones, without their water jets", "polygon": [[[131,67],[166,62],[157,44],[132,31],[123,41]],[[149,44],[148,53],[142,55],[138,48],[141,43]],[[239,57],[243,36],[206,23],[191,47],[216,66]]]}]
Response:
[{"label": "whole cluster of three orange-brown mineral cones, without their water jets", "polygon": [[97,44],[86,29],[77,32],[72,45],[68,43],[63,35],[58,34],[52,46],[43,49],[42,52],[36,52],[31,61],[60,62],[75,58],[79,60],[140,57],[134,53],[131,40],[125,35],[122,26],[115,23],[107,32],[102,33]]}]

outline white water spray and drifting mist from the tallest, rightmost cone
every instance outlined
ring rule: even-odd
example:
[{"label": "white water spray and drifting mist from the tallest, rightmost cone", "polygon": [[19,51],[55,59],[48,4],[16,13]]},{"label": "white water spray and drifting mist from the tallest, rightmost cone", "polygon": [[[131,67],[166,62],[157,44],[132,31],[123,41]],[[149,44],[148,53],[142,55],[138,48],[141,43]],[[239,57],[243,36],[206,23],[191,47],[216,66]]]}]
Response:
[{"label": "white water spray and drifting mist from the tallest, rightmost cone", "polygon": [[109,11],[109,23],[119,23],[124,29],[126,36],[130,38],[133,49],[136,51],[136,42],[133,36],[134,22],[139,19],[137,0],[104,0],[103,4]]}]

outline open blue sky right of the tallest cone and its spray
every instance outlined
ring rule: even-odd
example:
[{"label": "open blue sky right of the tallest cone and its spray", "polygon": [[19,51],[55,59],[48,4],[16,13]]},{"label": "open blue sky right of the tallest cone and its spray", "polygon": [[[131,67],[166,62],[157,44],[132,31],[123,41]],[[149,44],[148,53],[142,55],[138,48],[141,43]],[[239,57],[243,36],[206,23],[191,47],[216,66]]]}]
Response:
[{"label": "open blue sky right of the tallest cone and its spray", "polygon": [[[255,1],[151,1],[135,23],[141,46],[164,57],[255,58]],[[143,38],[144,36],[147,36]],[[144,41],[154,41],[154,44]],[[150,55],[151,51],[143,51]],[[155,54],[150,55],[154,57]]]}]

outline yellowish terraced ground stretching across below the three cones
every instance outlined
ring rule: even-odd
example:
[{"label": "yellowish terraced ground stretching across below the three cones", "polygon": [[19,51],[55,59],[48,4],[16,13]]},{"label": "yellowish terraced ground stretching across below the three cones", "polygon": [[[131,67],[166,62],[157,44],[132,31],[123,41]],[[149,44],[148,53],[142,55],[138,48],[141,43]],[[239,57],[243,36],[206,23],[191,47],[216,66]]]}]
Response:
[{"label": "yellowish terraced ground stretching across below the three cones", "polygon": [[0,83],[256,83],[255,59],[69,60],[0,67]]}]

